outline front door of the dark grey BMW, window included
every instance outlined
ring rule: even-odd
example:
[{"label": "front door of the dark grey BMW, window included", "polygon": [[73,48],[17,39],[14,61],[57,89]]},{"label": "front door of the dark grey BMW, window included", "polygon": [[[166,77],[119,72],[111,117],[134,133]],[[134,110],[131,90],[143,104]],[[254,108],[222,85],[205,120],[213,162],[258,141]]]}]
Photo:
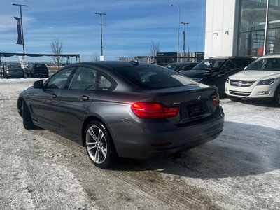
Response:
[{"label": "front door of the dark grey BMW, window included", "polygon": [[57,96],[61,90],[67,89],[67,83],[73,75],[76,67],[63,69],[57,72],[44,85],[43,89],[33,94],[31,109],[38,123],[56,127],[56,106],[59,104]]}]

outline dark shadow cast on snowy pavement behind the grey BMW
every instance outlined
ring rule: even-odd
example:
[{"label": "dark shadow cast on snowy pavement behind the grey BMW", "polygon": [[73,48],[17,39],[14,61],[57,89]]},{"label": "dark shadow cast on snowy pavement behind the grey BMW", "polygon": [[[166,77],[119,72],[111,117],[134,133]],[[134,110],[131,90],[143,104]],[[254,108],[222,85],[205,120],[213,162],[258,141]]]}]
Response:
[{"label": "dark shadow cast on snowy pavement behind the grey BMW", "polygon": [[159,170],[201,179],[263,174],[280,168],[279,137],[280,130],[226,121],[218,139],[181,157],[122,159],[115,170]]}]

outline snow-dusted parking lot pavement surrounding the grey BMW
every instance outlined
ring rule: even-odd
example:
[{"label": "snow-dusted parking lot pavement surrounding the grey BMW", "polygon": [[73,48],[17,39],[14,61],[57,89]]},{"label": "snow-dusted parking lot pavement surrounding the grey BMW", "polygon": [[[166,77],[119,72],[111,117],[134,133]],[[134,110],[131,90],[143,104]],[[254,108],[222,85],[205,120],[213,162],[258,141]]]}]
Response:
[{"label": "snow-dusted parking lot pavement surrounding the grey BMW", "polygon": [[107,171],[73,141],[24,130],[17,97],[35,80],[0,79],[0,209],[280,208],[279,108],[222,99],[218,139],[181,158],[122,160]]}]

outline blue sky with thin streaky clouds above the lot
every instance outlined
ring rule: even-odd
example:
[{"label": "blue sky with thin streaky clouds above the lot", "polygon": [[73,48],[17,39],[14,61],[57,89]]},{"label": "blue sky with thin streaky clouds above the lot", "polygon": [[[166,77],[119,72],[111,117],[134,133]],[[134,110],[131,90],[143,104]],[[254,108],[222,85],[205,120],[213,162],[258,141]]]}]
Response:
[{"label": "blue sky with thin streaky clouds above the lot", "polygon": [[[20,52],[15,17],[22,19],[26,53],[52,53],[50,43],[59,38],[64,53],[81,55],[82,61],[101,55],[100,16],[102,16],[104,59],[150,55],[151,41],[161,52],[177,51],[179,8],[186,29],[186,50],[204,51],[205,0],[1,0],[0,52]],[[174,3],[174,6],[169,6]],[[179,8],[176,6],[178,5]],[[183,25],[180,25],[180,51]],[[18,58],[8,58],[17,60]],[[29,61],[50,58],[28,58]],[[35,60],[36,59],[36,60]]]}]

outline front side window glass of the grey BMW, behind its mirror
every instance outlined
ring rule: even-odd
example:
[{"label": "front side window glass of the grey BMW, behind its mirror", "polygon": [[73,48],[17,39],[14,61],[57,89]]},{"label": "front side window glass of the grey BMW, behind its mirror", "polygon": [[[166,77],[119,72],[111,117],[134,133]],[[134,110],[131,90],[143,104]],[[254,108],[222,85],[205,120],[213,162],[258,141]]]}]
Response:
[{"label": "front side window glass of the grey BMW, behind its mirror", "polygon": [[71,67],[68,69],[64,69],[55,73],[50,80],[48,80],[47,88],[50,89],[66,89],[68,88],[69,78],[71,73],[76,67]]}]

